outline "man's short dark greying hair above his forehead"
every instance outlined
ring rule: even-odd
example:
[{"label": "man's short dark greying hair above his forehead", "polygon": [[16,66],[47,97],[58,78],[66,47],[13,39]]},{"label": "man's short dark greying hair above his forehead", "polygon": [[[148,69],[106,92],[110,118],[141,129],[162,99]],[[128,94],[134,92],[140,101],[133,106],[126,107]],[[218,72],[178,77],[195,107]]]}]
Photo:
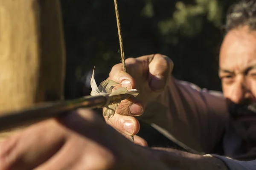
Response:
[{"label": "man's short dark greying hair above his forehead", "polygon": [[226,33],[240,26],[256,29],[256,0],[243,0],[228,9]]}]

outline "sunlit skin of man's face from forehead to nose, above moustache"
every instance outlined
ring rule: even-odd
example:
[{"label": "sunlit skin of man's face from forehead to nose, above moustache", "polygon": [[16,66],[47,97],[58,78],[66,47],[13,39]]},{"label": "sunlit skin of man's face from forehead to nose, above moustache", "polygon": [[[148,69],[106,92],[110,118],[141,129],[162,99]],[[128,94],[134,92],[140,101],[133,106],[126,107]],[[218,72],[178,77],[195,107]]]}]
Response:
[{"label": "sunlit skin of man's face from forehead to nose, above moustache", "polygon": [[256,101],[256,31],[229,31],[220,50],[219,77],[224,96],[236,104]]}]

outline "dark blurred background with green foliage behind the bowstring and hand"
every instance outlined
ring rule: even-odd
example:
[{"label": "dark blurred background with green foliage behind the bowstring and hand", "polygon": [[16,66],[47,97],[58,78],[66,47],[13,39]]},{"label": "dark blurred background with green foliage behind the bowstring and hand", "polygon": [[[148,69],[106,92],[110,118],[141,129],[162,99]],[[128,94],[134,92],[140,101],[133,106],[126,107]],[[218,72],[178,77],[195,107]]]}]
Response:
[{"label": "dark blurred background with green foliage behind the bowstring and hand", "polygon": [[[175,63],[173,75],[221,91],[218,52],[227,8],[235,0],[119,0],[125,58],[161,53]],[[65,97],[90,93],[120,62],[113,0],[61,0],[67,51]]]}]

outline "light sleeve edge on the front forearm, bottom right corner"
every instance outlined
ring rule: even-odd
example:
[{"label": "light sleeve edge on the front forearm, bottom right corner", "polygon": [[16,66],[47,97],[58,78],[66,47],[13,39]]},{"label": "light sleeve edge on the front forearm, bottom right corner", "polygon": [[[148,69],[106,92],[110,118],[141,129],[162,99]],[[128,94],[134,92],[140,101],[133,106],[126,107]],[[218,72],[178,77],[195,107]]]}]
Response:
[{"label": "light sleeve edge on the front forearm, bottom right corner", "polygon": [[226,164],[229,170],[256,170],[256,160],[252,161],[237,161],[225,156],[212,155],[215,158],[221,159]]}]

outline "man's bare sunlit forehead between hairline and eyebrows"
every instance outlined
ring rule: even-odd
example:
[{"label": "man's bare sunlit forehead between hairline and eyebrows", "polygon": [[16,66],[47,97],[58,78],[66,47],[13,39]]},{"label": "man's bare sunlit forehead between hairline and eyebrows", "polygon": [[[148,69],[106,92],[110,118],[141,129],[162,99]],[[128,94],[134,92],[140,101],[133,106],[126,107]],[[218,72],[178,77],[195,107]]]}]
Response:
[{"label": "man's bare sunlit forehead between hairline and eyebrows", "polygon": [[219,66],[241,71],[256,64],[256,31],[248,28],[231,30],[221,45]]}]

